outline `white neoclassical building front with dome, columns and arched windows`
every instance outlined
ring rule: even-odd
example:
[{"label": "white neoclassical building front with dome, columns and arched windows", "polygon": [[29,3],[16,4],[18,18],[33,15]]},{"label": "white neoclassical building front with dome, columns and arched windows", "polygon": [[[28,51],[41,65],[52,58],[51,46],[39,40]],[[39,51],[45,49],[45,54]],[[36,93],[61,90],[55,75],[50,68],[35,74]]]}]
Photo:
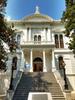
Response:
[{"label": "white neoclassical building front with dome, columns and arched windows", "polygon": [[[16,29],[18,49],[9,55],[8,66],[15,65],[15,71],[60,73],[60,60],[65,62],[66,75],[75,89],[75,59],[68,49],[68,38],[64,35],[64,24],[40,13],[35,13],[21,20],[8,22]],[[14,25],[14,27],[13,27]],[[11,68],[11,67],[9,67]]]}]

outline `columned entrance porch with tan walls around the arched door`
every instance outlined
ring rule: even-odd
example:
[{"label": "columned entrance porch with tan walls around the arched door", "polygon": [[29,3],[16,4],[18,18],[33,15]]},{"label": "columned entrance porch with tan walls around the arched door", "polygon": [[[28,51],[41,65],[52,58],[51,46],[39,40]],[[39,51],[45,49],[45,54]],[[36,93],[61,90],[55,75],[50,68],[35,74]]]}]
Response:
[{"label": "columned entrance porch with tan walls around the arched door", "polygon": [[24,50],[25,66],[30,72],[47,72],[52,70],[52,51],[45,48],[28,48]]}]

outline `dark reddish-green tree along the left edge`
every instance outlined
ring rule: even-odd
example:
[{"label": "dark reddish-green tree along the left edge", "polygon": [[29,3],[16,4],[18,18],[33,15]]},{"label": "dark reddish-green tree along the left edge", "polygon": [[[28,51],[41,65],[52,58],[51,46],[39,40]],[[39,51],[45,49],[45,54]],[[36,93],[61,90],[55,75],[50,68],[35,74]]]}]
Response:
[{"label": "dark reddish-green tree along the left edge", "polygon": [[14,30],[9,28],[4,20],[6,6],[7,0],[0,0],[0,70],[6,70],[7,53],[4,49],[3,42],[9,46],[11,52],[15,46],[13,40]]}]

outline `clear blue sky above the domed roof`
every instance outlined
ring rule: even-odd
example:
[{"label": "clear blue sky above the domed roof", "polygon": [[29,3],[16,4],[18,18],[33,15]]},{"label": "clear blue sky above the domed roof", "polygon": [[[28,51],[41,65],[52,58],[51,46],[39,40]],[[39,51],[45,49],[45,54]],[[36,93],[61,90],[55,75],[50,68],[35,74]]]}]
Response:
[{"label": "clear blue sky above the domed roof", "polygon": [[8,0],[6,16],[11,19],[21,19],[35,12],[39,6],[40,12],[53,19],[60,19],[65,9],[65,0]]}]

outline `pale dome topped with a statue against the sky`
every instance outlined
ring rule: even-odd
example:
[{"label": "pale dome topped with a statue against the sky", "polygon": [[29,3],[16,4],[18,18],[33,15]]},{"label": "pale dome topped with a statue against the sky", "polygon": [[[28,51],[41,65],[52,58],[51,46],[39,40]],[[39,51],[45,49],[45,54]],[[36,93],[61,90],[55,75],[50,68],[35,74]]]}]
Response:
[{"label": "pale dome topped with a statue against the sky", "polygon": [[34,14],[24,17],[23,21],[26,22],[52,22],[53,19],[47,15],[43,15],[39,12],[39,8],[36,7],[36,11]]}]

